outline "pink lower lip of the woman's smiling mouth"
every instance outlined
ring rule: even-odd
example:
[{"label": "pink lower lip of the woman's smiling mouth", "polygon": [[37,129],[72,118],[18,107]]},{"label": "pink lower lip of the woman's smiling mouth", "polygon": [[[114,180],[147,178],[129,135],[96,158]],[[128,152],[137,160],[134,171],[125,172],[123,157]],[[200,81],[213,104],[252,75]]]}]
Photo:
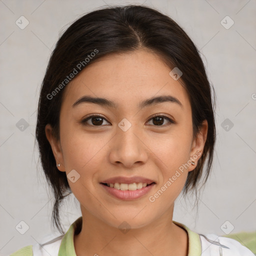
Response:
[{"label": "pink lower lip of the woman's smiling mouth", "polygon": [[148,193],[149,190],[155,185],[155,183],[152,183],[148,186],[145,186],[136,190],[120,190],[110,186],[103,185],[101,183],[100,185],[103,186],[108,193],[110,193],[111,195],[113,195],[118,199],[132,200],[132,199],[137,199],[143,196],[144,194]]}]

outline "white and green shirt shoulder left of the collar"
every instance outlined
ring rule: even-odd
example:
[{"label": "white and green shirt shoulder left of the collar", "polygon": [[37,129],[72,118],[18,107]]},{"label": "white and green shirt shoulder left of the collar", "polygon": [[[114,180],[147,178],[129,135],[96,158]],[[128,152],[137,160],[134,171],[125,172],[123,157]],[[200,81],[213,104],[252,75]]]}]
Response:
[{"label": "white and green shirt shoulder left of the collar", "polygon": [[[46,242],[27,245],[13,252],[9,256],[58,256],[62,237],[63,235],[54,238],[51,236],[51,239],[47,239]],[[49,236],[47,236],[47,238],[49,238]]]}]

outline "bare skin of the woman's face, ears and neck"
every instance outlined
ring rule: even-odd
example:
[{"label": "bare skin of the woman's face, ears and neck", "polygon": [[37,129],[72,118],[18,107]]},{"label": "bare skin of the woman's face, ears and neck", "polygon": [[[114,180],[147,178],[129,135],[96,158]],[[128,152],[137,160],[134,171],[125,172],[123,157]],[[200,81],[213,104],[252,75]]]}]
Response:
[{"label": "bare skin of the woman's face, ears and neck", "polygon": [[[80,202],[81,232],[74,236],[77,256],[82,255],[175,255],[188,251],[186,231],[172,222],[174,200],[182,190],[189,164],[183,173],[155,199],[149,201],[175,171],[196,152],[202,152],[207,122],[193,137],[188,95],[170,75],[170,68],[152,51],[139,49],[125,54],[107,55],[83,69],[65,88],[60,110],[60,139],[45,126],[59,171],[75,169],[80,178],[70,188]],[[121,93],[120,93],[121,92]],[[72,104],[81,96],[105,97],[118,108],[95,103]],[[144,99],[171,95],[182,104],[161,102],[138,108]],[[87,126],[81,120],[101,114],[101,126]],[[161,125],[153,114],[166,115]],[[118,123],[126,118],[127,131]],[[156,123],[156,124],[155,124]],[[169,125],[168,125],[169,124]],[[108,194],[99,184],[114,176],[143,176],[155,181],[149,193],[138,199],[121,200]],[[118,226],[126,221],[130,230]]]}]

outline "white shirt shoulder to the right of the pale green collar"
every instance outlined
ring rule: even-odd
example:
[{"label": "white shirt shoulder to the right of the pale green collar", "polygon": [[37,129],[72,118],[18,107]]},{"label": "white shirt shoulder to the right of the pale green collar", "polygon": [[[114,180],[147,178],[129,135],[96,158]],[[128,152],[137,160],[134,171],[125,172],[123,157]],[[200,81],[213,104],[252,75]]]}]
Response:
[{"label": "white shirt shoulder to the right of the pale green collar", "polygon": [[235,239],[216,234],[199,234],[201,256],[255,256],[247,247]]}]

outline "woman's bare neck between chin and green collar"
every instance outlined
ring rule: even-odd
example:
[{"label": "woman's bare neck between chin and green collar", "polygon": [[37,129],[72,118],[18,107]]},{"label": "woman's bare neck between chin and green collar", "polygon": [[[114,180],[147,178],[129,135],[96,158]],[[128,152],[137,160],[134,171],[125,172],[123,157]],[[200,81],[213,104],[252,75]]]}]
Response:
[{"label": "woman's bare neck between chin and green collar", "polygon": [[187,255],[187,233],[172,222],[173,208],[171,213],[165,212],[143,227],[126,230],[108,225],[84,208],[81,210],[82,228],[74,235],[77,256]]}]

